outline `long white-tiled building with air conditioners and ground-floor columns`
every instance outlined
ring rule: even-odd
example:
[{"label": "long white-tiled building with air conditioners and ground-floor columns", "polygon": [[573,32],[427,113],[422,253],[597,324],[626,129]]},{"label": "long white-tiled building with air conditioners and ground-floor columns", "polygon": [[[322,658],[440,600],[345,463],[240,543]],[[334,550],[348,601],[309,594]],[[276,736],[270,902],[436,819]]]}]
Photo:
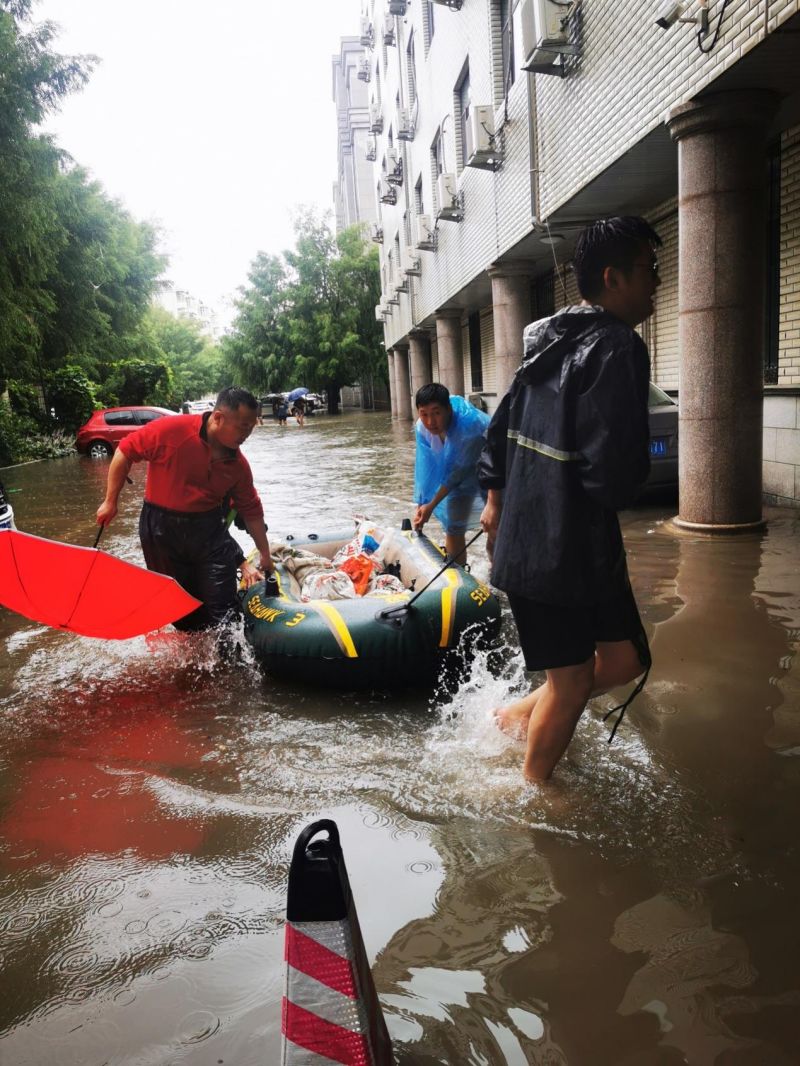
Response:
[{"label": "long white-tiled building with air conditioners and ground-floor columns", "polygon": [[431,379],[494,409],[583,225],[643,214],[681,520],[800,504],[797,0],[366,0],[361,29],[394,415]]}]

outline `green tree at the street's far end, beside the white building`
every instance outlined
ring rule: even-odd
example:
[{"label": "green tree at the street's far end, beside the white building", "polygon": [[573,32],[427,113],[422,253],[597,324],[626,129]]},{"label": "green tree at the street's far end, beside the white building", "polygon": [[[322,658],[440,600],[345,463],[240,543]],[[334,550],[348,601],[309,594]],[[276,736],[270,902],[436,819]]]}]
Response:
[{"label": "green tree at the street's far end, beside the white building", "polygon": [[338,410],[339,390],[367,377],[386,381],[378,252],[364,227],[334,235],[330,215],[302,208],[294,248],[259,253],[240,289],[238,316],[223,343],[225,362],[247,388],[325,389]]}]

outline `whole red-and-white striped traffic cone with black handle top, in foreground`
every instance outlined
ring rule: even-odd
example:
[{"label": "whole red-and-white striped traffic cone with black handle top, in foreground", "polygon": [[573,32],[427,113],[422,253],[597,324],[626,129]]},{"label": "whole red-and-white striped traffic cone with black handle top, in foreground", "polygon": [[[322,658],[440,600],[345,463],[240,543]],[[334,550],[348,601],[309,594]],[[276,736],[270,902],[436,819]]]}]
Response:
[{"label": "whole red-and-white striped traffic cone with black handle top, in foreground", "polygon": [[[327,840],[315,840],[326,831]],[[390,1066],[391,1040],[364,950],[335,822],[298,837],[286,905],[284,1066]]]}]

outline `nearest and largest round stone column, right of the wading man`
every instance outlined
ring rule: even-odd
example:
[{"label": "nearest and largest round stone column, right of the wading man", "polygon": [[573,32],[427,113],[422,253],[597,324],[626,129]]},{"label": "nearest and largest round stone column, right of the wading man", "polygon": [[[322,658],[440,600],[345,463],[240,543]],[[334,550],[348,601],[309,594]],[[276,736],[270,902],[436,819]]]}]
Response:
[{"label": "nearest and largest round stone column, right of the wading man", "polygon": [[762,526],[765,134],[778,99],[714,93],[681,104],[679,514],[707,533]]}]

